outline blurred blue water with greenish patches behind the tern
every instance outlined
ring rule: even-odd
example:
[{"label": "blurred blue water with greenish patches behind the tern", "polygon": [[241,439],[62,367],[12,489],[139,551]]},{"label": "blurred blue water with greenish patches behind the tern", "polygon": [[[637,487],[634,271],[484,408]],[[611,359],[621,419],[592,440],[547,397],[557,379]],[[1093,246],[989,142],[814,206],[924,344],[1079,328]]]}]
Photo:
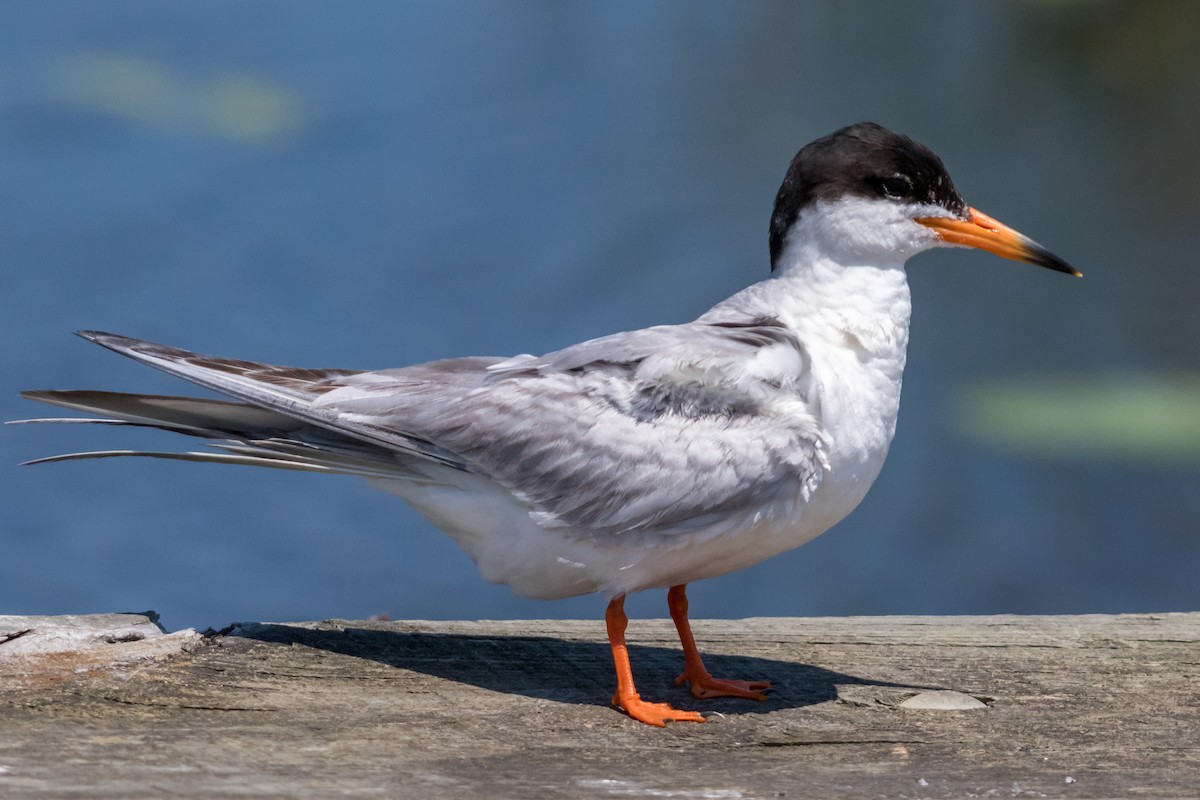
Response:
[{"label": "blurred blue water with greenish patches behind the tern", "polygon": [[[1196,609],[1198,40],[1187,0],[6,2],[0,416],[47,410],[19,389],[192,391],[80,327],[383,368],[691,319],[767,273],[793,152],[869,119],[1086,277],[911,263],[882,477],[694,615]],[[602,612],[486,584],[353,479],[18,468],[176,443],[0,433],[0,613]]]}]

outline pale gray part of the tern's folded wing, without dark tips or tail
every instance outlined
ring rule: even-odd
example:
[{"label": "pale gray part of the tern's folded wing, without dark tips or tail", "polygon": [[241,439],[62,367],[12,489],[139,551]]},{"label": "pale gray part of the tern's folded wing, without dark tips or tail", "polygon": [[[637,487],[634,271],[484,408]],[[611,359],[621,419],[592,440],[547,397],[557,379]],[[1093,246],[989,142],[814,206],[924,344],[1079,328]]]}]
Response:
[{"label": "pale gray part of the tern's folded wing, without dark tips or tail", "polygon": [[701,524],[826,468],[809,360],[772,319],[660,326],[518,356],[462,386],[424,367],[346,375],[314,405],[458,455],[546,525]]}]

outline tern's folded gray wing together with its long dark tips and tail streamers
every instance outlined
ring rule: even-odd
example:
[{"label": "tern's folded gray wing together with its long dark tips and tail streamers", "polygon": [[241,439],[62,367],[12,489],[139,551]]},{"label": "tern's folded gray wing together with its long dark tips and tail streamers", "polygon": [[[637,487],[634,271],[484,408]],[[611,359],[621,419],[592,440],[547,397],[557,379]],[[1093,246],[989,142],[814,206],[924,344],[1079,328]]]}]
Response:
[{"label": "tern's folded gray wing together with its long dark tips and tail streamers", "polygon": [[276,367],[82,336],[240,403],[30,393],[115,417],[103,423],[232,440],[217,445],[223,453],[68,458],[149,455],[409,480],[431,480],[421,465],[434,464],[508,487],[541,524],[596,530],[688,527],[781,493],[806,498],[826,469],[808,356],[772,319],[652,327],[541,357],[379,372]]}]

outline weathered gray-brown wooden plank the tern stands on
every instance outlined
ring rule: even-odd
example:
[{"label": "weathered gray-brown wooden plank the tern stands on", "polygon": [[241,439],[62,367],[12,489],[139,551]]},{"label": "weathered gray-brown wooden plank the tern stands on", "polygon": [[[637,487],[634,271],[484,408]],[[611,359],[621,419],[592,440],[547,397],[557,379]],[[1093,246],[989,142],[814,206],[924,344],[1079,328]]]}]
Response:
[{"label": "weathered gray-brown wooden plank the tern stands on", "polygon": [[[608,709],[599,620],[0,618],[0,796],[1200,796],[1200,613],[695,628],[770,699],[676,688],[661,620],[630,625],[638,688],[708,723]],[[905,706],[932,690],[985,708]]]}]

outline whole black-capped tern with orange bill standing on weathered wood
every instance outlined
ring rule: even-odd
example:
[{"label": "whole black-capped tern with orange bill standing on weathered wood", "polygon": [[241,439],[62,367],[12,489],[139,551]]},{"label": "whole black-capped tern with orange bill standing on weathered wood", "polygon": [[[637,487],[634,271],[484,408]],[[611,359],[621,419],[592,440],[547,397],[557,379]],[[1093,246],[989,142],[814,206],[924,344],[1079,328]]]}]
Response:
[{"label": "whole black-capped tern with orange bill standing on weathered wood", "polygon": [[1080,272],[967,205],[942,161],[874,122],[791,161],[769,224],[770,272],[697,319],[553,353],[394,369],[308,369],[83,338],[229,399],[26,391],[98,415],[25,422],[144,426],[211,450],[76,452],[354,475],[448,533],[482,577],[517,594],[601,593],[617,690],[634,720],[704,722],[642,699],[625,596],[667,589],[696,698],[766,699],[766,680],[714,678],[686,587],[809,542],[863,500],[900,403],[911,299],[905,263],[979,248]]}]

